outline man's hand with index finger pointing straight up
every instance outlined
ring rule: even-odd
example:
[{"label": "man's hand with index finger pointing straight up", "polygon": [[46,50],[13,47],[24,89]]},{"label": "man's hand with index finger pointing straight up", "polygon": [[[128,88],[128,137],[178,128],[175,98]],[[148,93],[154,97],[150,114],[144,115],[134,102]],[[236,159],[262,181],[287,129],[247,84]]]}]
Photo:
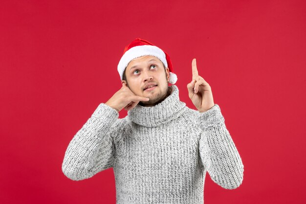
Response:
[{"label": "man's hand with index finger pointing straight up", "polygon": [[211,87],[198,75],[196,59],[192,60],[192,81],[187,84],[187,89],[189,98],[200,113],[215,105]]}]

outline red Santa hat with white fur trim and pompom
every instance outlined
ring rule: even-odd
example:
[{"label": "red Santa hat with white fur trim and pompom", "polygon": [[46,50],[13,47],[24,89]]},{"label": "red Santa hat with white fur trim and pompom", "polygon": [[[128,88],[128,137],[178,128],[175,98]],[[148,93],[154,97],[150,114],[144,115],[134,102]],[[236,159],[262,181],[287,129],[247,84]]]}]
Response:
[{"label": "red Santa hat with white fur trim and pompom", "polygon": [[123,51],[123,56],[121,57],[118,64],[118,72],[120,74],[121,80],[123,72],[131,60],[146,55],[157,57],[165,65],[166,68],[168,67],[170,72],[169,83],[175,84],[177,81],[177,76],[175,73],[173,73],[172,63],[167,52],[140,38],[133,40],[129,45],[125,47]]}]

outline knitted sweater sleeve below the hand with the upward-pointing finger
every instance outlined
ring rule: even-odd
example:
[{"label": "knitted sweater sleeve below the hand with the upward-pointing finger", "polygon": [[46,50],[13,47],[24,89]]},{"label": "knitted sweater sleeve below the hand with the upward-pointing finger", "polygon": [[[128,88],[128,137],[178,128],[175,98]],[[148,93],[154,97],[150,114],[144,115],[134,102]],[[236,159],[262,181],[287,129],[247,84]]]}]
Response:
[{"label": "knitted sweater sleeve below the hand with the upward-pointing finger", "polygon": [[[198,112],[199,113],[199,112]],[[225,189],[235,189],[242,183],[244,166],[238,150],[226,129],[218,104],[199,113],[202,129],[199,154],[211,179]]]}]

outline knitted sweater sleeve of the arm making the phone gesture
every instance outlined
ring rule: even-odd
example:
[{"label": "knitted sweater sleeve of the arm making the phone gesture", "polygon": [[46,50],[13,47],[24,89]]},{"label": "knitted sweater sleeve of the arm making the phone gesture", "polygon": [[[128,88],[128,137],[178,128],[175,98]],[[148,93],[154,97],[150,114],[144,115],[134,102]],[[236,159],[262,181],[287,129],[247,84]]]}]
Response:
[{"label": "knitted sweater sleeve of the arm making the phone gesture", "polygon": [[[113,165],[114,140],[119,113],[101,103],[70,141],[62,171],[71,180],[88,179]],[[112,134],[110,134],[110,132]]]}]

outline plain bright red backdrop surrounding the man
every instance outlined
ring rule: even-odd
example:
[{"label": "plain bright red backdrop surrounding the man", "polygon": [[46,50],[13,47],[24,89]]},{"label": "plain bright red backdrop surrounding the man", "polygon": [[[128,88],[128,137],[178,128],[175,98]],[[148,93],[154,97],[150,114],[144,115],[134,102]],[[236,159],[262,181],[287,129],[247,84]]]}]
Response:
[{"label": "plain bright red backdrop surrounding the man", "polygon": [[238,148],[242,184],[207,174],[205,204],[306,202],[305,0],[1,0],[0,20],[1,204],[115,204],[112,168],[71,181],[61,165],[137,37],[169,53],[193,109],[197,58]]}]

